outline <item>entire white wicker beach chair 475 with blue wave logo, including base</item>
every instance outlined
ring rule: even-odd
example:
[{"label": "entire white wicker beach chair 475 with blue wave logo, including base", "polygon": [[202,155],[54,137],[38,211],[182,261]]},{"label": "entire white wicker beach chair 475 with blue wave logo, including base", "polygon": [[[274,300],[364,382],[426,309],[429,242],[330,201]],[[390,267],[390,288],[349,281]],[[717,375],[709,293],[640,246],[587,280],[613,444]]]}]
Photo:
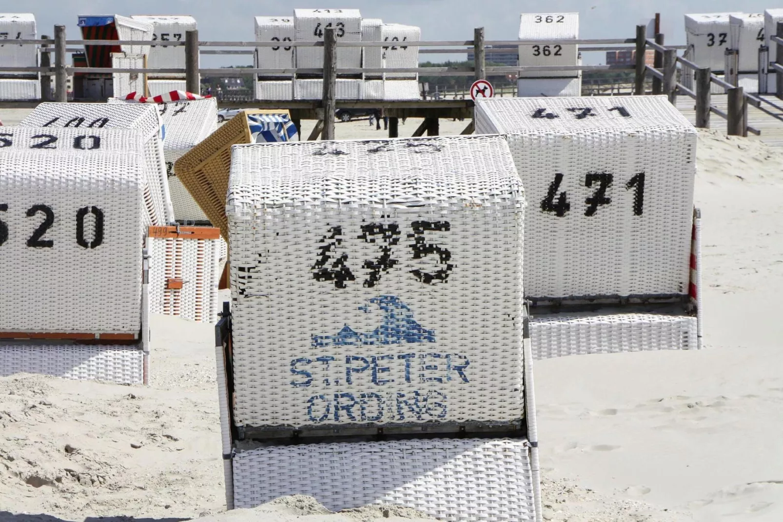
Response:
[{"label": "entire white wicker beach chair 475 with blue wave logo, including base", "polygon": [[229,506],[540,520],[524,206],[500,136],[233,147]]}]

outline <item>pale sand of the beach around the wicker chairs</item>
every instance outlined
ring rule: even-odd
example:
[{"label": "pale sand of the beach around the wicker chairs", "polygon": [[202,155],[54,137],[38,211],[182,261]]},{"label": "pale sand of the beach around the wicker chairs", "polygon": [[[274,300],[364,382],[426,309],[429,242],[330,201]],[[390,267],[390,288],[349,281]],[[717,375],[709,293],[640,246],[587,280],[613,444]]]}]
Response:
[{"label": "pale sand of the beach around the wicker chairs", "polygon": [[[468,123],[442,120],[441,133]],[[336,135],[386,132],[362,120]],[[783,520],[783,150],[699,131],[695,198],[705,350],[536,361],[545,520]],[[154,316],[150,386],[0,378],[0,521],[421,517],[301,497],[222,513],[213,344],[211,324]]]}]

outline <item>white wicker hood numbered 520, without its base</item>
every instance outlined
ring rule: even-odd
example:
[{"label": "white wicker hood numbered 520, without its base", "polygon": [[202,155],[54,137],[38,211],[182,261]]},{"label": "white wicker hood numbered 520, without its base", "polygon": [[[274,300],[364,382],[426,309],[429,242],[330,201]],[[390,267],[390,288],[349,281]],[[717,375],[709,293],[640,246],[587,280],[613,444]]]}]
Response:
[{"label": "white wicker hood numbered 520, without its base", "polygon": [[139,332],[141,136],[0,127],[0,138],[0,332]]}]

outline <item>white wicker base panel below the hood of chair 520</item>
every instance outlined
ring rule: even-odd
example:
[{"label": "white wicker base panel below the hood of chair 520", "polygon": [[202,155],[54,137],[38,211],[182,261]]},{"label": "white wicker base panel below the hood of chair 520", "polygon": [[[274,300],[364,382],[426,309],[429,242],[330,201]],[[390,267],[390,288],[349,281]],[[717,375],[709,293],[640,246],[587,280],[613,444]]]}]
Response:
[{"label": "white wicker base panel below the hood of chair 520", "polygon": [[0,377],[35,373],[142,384],[143,359],[138,346],[0,343]]}]

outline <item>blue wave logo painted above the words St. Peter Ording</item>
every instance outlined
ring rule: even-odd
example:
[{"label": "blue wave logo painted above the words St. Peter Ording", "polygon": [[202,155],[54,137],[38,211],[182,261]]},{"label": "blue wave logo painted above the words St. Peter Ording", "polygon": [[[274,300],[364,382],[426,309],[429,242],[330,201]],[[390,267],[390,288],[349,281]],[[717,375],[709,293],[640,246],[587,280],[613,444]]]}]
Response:
[{"label": "blue wave logo painted above the words St. Peter Ording", "polygon": [[[384,312],[381,325],[372,332],[356,332],[346,324],[337,335],[313,335],[312,346],[363,346],[401,343],[435,343],[435,330],[428,330],[413,319],[413,310],[395,295],[380,295],[370,299]],[[370,305],[359,306],[370,312]]]}]

